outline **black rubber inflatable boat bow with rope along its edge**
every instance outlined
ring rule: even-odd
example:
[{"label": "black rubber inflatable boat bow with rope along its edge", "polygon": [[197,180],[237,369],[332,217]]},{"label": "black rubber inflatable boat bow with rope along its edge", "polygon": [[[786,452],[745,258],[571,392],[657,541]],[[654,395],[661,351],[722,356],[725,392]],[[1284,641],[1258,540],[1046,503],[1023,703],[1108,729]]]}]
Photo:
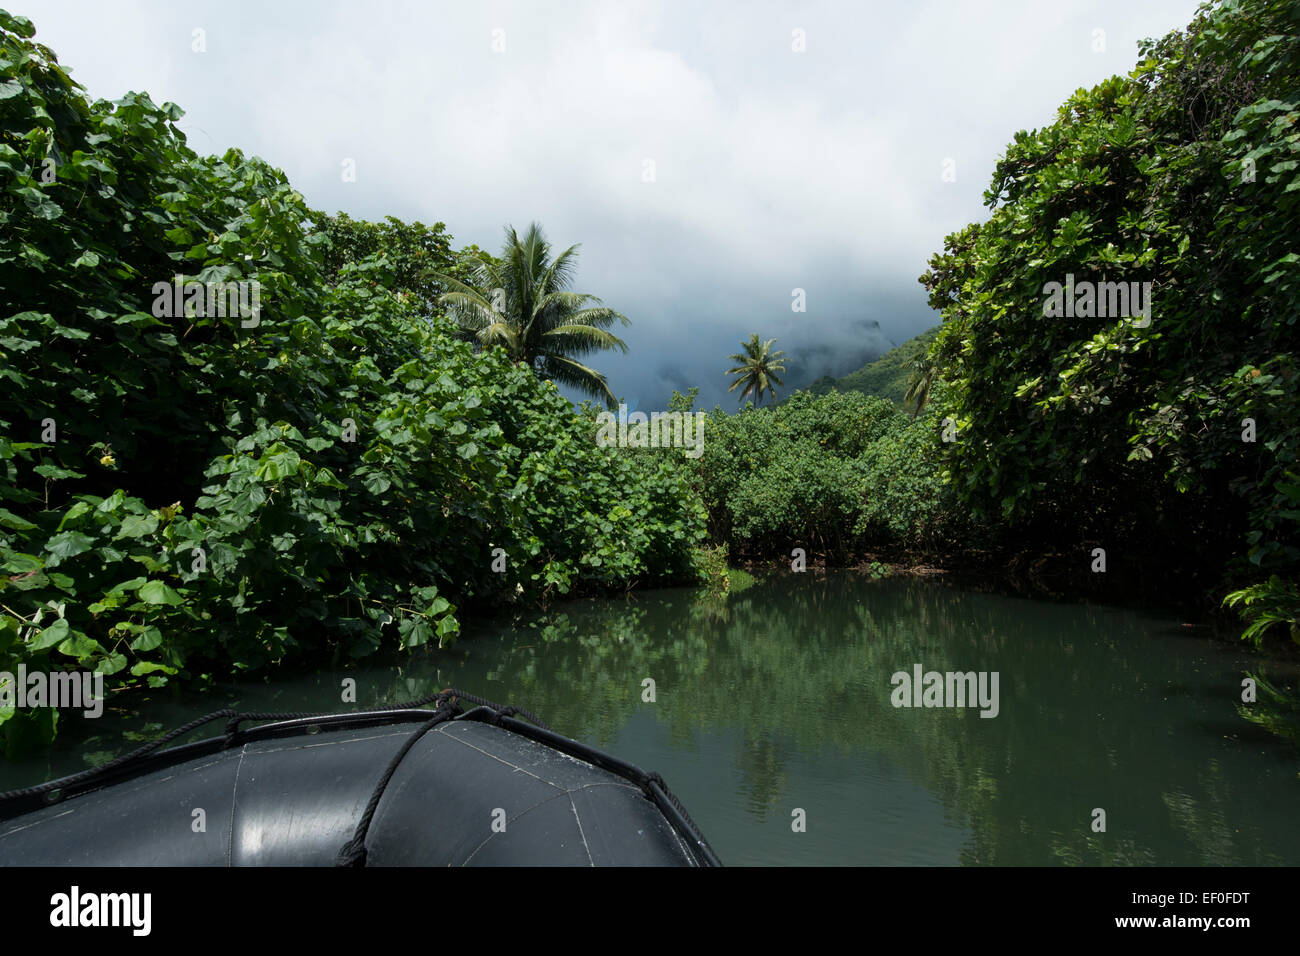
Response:
[{"label": "black rubber inflatable boat bow with rope along its edge", "polygon": [[719,865],[656,774],[467,697],[247,730],[272,715],[221,711],[224,737],[0,795],[0,865]]}]

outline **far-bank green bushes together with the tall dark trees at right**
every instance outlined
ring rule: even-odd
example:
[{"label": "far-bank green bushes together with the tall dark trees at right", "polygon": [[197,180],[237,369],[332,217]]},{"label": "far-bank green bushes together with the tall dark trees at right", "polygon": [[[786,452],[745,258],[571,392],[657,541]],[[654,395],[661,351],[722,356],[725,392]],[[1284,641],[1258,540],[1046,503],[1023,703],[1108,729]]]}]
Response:
[{"label": "far-bank green bushes together with the tall dark trees at right", "polygon": [[[1222,601],[1248,639],[1300,641],[1297,47],[1294,4],[1209,5],[1018,133],[989,219],[922,276],[942,324],[911,362],[918,425],[833,393],[711,420],[714,533],[979,555],[1065,593]],[[1121,284],[1141,313],[1093,297]]]}]

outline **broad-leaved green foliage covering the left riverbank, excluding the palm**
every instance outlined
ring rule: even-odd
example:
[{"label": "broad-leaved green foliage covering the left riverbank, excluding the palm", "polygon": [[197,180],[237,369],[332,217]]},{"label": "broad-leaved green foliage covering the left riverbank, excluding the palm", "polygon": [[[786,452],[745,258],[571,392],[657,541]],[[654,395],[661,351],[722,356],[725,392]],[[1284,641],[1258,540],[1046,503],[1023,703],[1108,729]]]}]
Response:
[{"label": "broad-leaved green foliage covering the left riverbank, excluding the palm", "polygon": [[[0,13],[0,671],[156,687],[696,579],[668,460],[598,449],[411,295],[441,228],[330,225],[264,161],[195,155],[176,105],[91,101],[32,33]],[[256,282],[260,312],[172,313],[174,276]],[[0,747],[56,719],[10,704]]]}]

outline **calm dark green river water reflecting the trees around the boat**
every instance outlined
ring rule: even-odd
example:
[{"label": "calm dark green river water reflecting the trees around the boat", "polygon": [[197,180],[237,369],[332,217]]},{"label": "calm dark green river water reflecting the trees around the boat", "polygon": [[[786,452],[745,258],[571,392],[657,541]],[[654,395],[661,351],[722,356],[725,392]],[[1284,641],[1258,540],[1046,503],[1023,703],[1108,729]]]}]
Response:
[{"label": "calm dark green river water reflecting the trees around the boat", "polygon": [[[997,671],[998,715],[894,708],[890,676],[915,665]],[[727,864],[1295,865],[1296,750],[1239,713],[1261,670],[1296,684],[1132,611],[784,575],[725,598],[569,602],[399,665],[136,700],[68,722],[51,754],[0,767],[0,790],[224,706],[352,709],[354,676],[358,708],[455,685],[658,770]]]}]

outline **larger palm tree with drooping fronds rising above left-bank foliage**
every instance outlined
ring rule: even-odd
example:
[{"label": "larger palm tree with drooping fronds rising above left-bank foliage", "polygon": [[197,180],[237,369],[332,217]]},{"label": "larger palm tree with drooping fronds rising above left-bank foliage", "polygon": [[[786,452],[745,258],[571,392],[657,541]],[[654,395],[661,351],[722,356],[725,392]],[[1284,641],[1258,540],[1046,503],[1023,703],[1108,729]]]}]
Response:
[{"label": "larger palm tree with drooping fronds rising above left-bank foliage", "polygon": [[603,399],[612,408],[614,393],[604,376],[575,356],[603,349],[625,352],[627,342],[608,328],[615,321],[629,323],[594,295],[568,291],[576,261],[577,246],[552,260],[542,228],[533,222],[523,239],[506,226],[499,260],[462,259],[468,282],[445,272],[430,277],[451,290],[438,303],[447,307],[467,339],[485,349],[499,345],[543,378]]}]

